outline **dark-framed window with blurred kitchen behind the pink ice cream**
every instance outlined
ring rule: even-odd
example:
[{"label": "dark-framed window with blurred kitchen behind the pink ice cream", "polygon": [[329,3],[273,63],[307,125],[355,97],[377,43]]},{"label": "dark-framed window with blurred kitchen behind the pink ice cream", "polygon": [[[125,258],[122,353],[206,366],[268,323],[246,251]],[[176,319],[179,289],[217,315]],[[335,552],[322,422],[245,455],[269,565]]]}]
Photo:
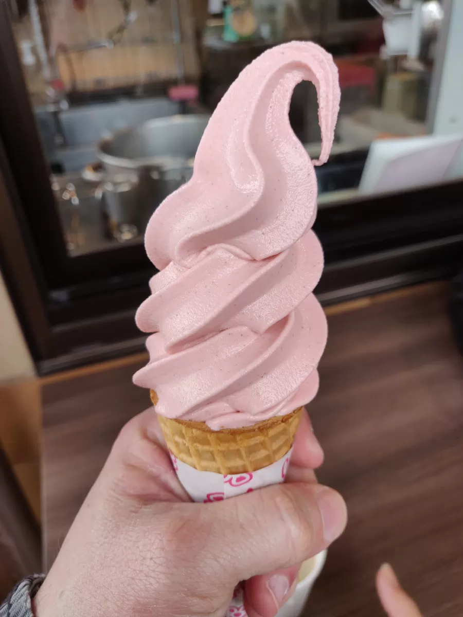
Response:
[{"label": "dark-framed window with blurred kitchen behind the pink ice cream", "polygon": [[[148,218],[240,70],[291,39],[327,48],[342,89],[316,168],[322,302],[453,272],[462,27],[461,0],[2,2],[2,271],[38,370],[143,347]],[[312,84],[290,120],[317,157]]]}]

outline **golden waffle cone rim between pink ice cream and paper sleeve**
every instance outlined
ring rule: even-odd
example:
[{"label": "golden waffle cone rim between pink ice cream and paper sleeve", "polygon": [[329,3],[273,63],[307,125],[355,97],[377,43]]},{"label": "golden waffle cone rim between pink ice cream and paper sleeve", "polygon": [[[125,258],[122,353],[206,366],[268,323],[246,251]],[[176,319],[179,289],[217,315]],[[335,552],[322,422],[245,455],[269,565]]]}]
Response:
[{"label": "golden waffle cone rim between pink ice cream and paper sleeve", "polygon": [[[157,394],[151,391],[156,407]],[[170,452],[199,471],[222,474],[257,471],[282,458],[298,429],[302,407],[245,428],[213,431],[205,422],[158,415]]]}]

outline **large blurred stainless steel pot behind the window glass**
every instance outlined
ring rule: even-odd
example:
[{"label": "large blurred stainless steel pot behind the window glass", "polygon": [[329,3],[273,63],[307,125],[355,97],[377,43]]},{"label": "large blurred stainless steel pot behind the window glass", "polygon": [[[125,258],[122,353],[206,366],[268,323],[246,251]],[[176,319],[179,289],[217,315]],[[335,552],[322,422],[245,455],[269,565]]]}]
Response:
[{"label": "large blurred stainless steel pot behind the window glass", "polygon": [[138,176],[131,223],[136,220],[137,226],[144,229],[157,205],[190,180],[194,155],[207,122],[207,114],[156,118],[123,129],[99,143],[98,158],[105,180],[127,173]]}]

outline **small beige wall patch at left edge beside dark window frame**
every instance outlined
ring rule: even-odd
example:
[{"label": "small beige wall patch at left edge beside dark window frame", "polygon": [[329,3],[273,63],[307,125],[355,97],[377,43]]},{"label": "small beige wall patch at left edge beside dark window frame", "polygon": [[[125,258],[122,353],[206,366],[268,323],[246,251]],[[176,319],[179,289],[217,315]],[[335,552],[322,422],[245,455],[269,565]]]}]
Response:
[{"label": "small beige wall patch at left edge beside dark window frame", "polygon": [[32,358],[0,274],[0,383],[34,374]]}]

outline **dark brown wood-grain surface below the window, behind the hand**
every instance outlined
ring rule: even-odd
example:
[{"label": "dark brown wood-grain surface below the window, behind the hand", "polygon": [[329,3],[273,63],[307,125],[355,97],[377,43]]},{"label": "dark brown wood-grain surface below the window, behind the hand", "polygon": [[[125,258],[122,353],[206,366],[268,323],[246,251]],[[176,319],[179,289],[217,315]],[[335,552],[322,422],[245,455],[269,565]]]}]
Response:
[{"label": "dark brown wood-grain surface below the window, behind the hand", "polygon": [[[441,286],[331,310],[321,389],[310,405],[348,503],[306,615],[382,615],[373,577],[390,561],[427,617],[463,615],[463,362]],[[43,524],[56,555],[122,424],[148,407],[130,378],[142,358],[45,384]]]}]

